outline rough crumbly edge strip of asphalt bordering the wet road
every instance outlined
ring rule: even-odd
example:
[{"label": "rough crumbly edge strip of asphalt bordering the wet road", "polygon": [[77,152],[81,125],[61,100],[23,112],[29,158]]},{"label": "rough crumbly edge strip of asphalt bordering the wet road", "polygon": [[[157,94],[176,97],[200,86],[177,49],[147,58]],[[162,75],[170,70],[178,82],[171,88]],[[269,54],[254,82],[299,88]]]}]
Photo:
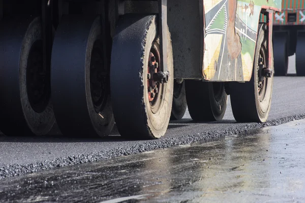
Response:
[{"label": "rough crumbly edge strip of asphalt bordering the wet road", "polygon": [[210,131],[198,132],[195,134],[187,134],[185,136],[181,136],[178,138],[162,138],[159,140],[147,141],[144,144],[131,145],[129,147],[121,147],[111,150],[102,150],[99,152],[61,157],[53,160],[45,160],[31,164],[3,165],[0,166],[0,180],[14,176],[40,172],[40,171],[48,170],[50,168],[99,161],[118,156],[126,156],[130,154],[151,151],[160,148],[191,144],[198,141],[208,142],[215,139],[219,139],[224,136],[228,136],[230,134],[238,134],[245,131],[254,130],[257,128],[280,125],[290,121],[300,120],[304,118],[305,118],[305,114],[299,114],[280,119],[270,120],[265,123],[245,123],[241,126],[239,125],[237,127],[230,127],[222,130],[210,130]]}]

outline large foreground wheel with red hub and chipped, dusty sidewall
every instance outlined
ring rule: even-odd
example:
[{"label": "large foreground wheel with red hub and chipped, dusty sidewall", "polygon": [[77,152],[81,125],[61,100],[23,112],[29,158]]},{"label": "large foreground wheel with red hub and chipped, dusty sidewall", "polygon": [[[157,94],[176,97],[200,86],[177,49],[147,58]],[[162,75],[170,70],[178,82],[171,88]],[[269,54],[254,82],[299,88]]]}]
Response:
[{"label": "large foreground wheel with red hub and chipped, dusty sidewall", "polygon": [[121,136],[154,139],[163,136],[171,114],[174,73],[170,33],[167,32],[167,83],[154,81],[160,72],[157,17],[125,15],[113,39],[110,88],[115,122]]}]

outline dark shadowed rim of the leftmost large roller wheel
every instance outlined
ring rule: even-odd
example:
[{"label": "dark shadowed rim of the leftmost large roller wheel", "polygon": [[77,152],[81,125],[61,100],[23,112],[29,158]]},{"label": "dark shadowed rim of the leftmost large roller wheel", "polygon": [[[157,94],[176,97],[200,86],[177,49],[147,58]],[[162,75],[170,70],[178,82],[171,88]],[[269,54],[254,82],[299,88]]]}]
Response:
[{"label": "dark shadowed rim of the leftmost large roller wheel", "polygon": [[50,99],[49,74],[43,68],[42,41],[36,41],[29,52],[26,66],[26,91],[34,111],[41,113]]}]

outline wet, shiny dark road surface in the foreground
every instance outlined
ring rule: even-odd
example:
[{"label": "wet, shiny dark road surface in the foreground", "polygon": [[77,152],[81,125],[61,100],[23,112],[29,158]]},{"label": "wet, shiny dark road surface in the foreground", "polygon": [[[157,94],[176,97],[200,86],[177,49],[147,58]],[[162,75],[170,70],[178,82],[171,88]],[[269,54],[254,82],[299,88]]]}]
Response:
[{"label": "wet, shiny dark road surface in the foreground", "polygon": [[1,202],[304,202],[305,119],[0,181]]}]

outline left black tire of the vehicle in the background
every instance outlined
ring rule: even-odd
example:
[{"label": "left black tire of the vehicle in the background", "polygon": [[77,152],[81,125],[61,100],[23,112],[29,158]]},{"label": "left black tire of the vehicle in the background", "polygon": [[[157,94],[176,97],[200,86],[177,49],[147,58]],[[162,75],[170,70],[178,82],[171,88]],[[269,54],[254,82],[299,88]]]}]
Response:
[{"label": "left black tire of the vehicle in the background", "polygon": [[273,35],[273,56],[275,76],[286,76],[288,71],[287,35],[285,32],[275,32]]}]

